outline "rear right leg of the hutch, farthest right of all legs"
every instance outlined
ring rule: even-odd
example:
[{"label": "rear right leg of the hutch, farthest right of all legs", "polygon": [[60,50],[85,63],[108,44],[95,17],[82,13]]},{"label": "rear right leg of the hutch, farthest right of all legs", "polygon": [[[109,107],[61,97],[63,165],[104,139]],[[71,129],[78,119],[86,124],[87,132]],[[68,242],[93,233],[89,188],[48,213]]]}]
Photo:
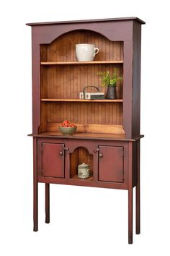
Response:
[{"label": "rear right leg of the hutch, farthest right of all legs", "polygon": [[137,184],[135,187],[135,233],[140,234],[140,141],[137,142]]}]

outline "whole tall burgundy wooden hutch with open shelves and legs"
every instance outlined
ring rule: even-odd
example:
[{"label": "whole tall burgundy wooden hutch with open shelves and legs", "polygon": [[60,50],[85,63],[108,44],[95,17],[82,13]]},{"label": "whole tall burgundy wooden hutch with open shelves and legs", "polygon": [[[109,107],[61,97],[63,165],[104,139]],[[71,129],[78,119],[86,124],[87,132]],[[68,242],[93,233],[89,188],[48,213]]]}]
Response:
[{"label": "whole tall burgundy wooden hutch with open shelves and legs", "polygon": [[[50,183],[128,190],[128,242],[133,243],[133,187],[136,234],[140,234],[140,41],[136,17],[29,23],[32,26],[32,137],[34,231],[37,185],[45,183],[45,222],[50,222]],[[76,59],[76,43],[94,43],[94,61]],[[84,86],[101,88],[98,72],[123,77],[116,100],[84,100]],[[105,88],[102,88],[105,91]],[[77,131],[63,136],[58,125],[73,121]],[[77,166],[88,163],[89,179]]]}]

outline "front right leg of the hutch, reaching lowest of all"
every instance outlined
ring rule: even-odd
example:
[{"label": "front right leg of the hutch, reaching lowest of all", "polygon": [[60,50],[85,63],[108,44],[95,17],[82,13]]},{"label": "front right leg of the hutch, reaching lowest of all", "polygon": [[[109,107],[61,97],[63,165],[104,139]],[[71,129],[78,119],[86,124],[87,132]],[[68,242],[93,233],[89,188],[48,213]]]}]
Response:
[{"label": "front right leg of the hutch, reaching lowest of all", "polygon": [[128,243],[133,244],[133,142],[129,142],[128,161]]}]

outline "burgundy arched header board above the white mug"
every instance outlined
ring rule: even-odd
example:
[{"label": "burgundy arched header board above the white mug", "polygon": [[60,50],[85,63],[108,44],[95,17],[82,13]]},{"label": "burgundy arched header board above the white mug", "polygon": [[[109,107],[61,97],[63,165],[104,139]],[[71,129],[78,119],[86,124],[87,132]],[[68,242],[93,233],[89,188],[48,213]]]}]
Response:
[{"label": "burgundy arched header board above the white mug", "polygon": [[52,43],[53,40],[64,33],[73,30],[91,30],[93,33],[99,33],[112,41],[133,40],[133,22],[100,22],[100,23],[76,23],[76,24],[55,24],[55,25],[37,25],[32,27],[32,43],[40,45],[43,43]]}]

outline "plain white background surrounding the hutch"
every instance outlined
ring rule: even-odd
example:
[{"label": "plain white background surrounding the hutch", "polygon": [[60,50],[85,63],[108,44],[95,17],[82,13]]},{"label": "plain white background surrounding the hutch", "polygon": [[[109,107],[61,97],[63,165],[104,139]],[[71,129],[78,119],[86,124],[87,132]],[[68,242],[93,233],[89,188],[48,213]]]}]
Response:
[{"label": "plain white background surrounding the hutch", "polygon": [[[1,1],[1,255],[169,255],[169,1]],[[128,192],[51,185],[32,231],[31,28],[26,22],[139,17],[141,234],[128,244]],[[134,223],[135,228],[135,223]]]}]

